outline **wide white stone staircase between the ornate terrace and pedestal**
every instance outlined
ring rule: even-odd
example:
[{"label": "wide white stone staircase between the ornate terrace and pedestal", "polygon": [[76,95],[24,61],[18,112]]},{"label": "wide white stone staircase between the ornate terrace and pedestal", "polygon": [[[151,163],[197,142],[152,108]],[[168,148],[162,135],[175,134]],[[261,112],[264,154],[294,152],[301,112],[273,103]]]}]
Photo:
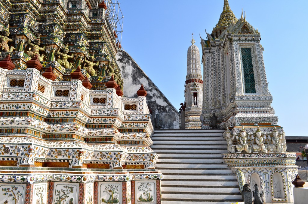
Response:
[{"label": "wide white stone staircase between the ornate terrace and pedestal", "polygon": [[241,202],[236,175],[221,158],[227,152],[223,130],[156,130],[151,148],[164,179],[162,204]]}]

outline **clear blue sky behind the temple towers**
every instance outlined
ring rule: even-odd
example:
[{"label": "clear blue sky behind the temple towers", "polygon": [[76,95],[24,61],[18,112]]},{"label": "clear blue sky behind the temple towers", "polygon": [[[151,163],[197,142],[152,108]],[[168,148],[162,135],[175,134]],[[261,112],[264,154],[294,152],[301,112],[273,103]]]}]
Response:
[{"label": "clear blue sky behind the temple towers", "polygon": [[[212,32],[223,9],[223,0],[120,0],[124,14],[122,47],[178,109],[184,102],[186,55],[194,33]],[[308,1],[229,0],[237,18],[261,33],[272,106],[286,135],[308,136],[307,40]],[[201,65],[202,67],[202,65]],[[203,72],[203,70],[202,70]],[[125,86],[125,84],[124,84]]]}]

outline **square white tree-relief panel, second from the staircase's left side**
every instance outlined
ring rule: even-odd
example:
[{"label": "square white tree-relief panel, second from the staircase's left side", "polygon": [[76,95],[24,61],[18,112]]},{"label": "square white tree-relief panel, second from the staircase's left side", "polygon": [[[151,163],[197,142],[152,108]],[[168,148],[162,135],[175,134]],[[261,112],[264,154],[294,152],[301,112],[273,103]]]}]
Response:
[{"label": "square white tree-relief panel, second from the staircase's left side", "polygon": [[119,203],[121,199],[121,185],[108,183],[100,185],[100,203]]}]

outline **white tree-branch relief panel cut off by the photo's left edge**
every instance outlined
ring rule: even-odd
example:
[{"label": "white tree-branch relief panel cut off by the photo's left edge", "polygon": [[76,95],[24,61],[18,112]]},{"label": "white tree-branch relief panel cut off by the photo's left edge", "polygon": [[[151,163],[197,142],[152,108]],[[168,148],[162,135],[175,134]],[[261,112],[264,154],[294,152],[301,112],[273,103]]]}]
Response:
[{"label": "white tree-branch relief panel cut off by the photo's left edge", "polygon": [[24,186],[0,186],[2,195],[1,202],[4,204],[19,204],[22,203],[22,194]]}]

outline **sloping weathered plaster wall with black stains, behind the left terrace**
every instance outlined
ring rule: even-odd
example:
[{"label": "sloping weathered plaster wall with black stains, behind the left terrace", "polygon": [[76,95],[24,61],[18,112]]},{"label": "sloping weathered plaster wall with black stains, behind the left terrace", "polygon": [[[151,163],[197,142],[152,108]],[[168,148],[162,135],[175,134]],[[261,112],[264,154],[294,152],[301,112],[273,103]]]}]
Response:
[{"label": "sloping weathered plaster wall with black stains, behind the left terrace", "polygon": [[158,113],[161,120],[160,126],[162,128],[179,129],[180,113],[137,65],[132,57],[125,51],[121,50],[116,54],[116,59],[121,70],[121,76],[124,79],[124,96],[137,97],[137,90],[140,88],[140,85],[143,84],[148,92],[146,97],[147,104],[153,111],[153,127],[155,127],[155,115]]}]

